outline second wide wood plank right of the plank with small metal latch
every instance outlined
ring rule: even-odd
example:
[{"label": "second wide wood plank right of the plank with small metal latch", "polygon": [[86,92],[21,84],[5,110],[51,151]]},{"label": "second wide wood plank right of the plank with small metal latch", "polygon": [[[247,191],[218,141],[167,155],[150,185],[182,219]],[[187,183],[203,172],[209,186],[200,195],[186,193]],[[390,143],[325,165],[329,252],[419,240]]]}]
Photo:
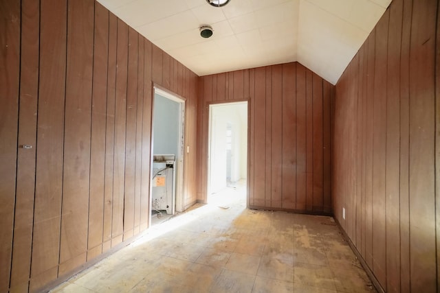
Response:
[{"label": "second wide wood plank right of the plank with small metal latch", "polygon": [[[69,1],[58,274],[84,263],[87,251],[93,48],[94,1]],[[84,60],[84,63],[76,60]]]}]

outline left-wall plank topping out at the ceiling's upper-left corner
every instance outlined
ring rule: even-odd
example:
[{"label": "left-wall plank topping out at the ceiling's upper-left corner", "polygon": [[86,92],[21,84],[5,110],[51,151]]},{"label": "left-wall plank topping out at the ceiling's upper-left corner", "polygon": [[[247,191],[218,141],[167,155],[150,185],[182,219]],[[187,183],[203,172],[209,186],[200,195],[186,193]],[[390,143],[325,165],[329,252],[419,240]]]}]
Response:
[{"label": "left-wall plank topping out at the ceiling's upper-left corner", "polygon": [[[94,258],[96,254],[99,255],[102,253],[102,231],[104,228],[109,10],[105,9],[104,6],[99,3],[95,3],[94,38],[94,80],[91,108],[90,198],[87,259]],[[92,252],[90,250],[92,250]]]}]

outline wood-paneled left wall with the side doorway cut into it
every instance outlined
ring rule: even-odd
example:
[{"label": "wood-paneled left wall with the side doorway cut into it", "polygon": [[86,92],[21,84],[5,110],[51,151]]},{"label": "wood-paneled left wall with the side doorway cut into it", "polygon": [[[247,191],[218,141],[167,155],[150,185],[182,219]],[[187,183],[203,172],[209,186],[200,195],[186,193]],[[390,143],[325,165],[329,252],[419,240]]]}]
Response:
[{"label": "wood-paneled left wall with the side doorway cut into it", "polygon": [[0,292],[43,288],[147,228],[153,84],[186,99],[196,201],[195,73],[94,0],[1,0],[0,48]]}]

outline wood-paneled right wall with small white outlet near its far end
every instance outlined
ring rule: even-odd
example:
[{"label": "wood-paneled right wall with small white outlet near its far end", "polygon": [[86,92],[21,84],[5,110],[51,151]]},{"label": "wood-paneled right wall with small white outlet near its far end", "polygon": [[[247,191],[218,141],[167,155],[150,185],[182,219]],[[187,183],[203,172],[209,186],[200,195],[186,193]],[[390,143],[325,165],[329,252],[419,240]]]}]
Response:
[{"label": "wood-paneled right wall with small white outlet near its far end", "polygon": [[334,214],[386,292],[440,288],[437,5],[393,0],[336,85]]}]

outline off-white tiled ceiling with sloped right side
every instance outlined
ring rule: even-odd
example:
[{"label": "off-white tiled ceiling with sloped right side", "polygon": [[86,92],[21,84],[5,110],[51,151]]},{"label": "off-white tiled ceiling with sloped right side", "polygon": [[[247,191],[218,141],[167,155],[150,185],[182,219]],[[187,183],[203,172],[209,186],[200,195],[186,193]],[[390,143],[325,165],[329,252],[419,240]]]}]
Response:
[{"label": "off-white tiled ceiling with sloped right side", "polygon": [[298,61],[336,84],[391,0],[98,2],[199,76]]}]

